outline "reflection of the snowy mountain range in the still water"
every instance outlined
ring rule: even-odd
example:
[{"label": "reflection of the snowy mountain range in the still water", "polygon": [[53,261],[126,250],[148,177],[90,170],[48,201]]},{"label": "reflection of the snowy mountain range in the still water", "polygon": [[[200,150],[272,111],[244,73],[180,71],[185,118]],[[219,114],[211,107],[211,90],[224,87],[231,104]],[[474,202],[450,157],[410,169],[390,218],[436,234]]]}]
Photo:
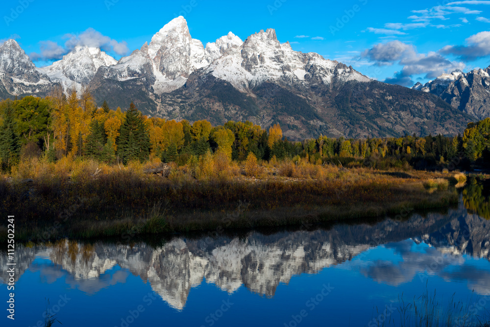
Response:
[{"label": "reflection of the snowy mountain range in the still water", "polygon": [[[164,301],[181,310],[191,288],[204,279],[230,294],[245,286],[253,293],[272,297],[280,283],[287,284],[296,275],[315,274],[356,258],[342,265],[343,269],[360,271],[380,283],[399,285],[420,275],[437,275],[446,280],[466,280],[475,292],[489,295],[490,272],[465,265],[462,256],[470,253],[490,259],[489,224],[460,208],[447,216],[414,215],[407,222],[386,220],[374,226],[335,226],[328,231],[250,232],[246,238],[223,236],[212,243],[207,238],[175,238],[156,249],[145,244],[130,247],[62,241],[49,248],[20,247],[16,278],[27,269],[41,271],[48,280],[68,273],[67,283],[93,294],[125,282],[129,271],[148,281]],[[403,260],[373,261],[361,254],[379,244],[386,244],[383,247]],[[37,264],[29,268],[36,257],[49,258],[59,267]],[[7,276],[4,261],[5,256],[0,256],[2,281]],[[123,270],[111,270],[117,266]]]}]

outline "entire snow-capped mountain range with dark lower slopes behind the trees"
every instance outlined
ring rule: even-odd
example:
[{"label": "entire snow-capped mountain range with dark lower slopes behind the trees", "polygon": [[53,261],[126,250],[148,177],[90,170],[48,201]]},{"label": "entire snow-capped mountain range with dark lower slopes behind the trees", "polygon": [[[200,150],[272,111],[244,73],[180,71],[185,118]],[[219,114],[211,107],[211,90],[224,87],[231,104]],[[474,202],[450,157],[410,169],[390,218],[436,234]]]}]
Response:
[{"label": "entire snow-capped mountain range with dark lower slopes behind the trees", "polygon": [[[474,84],[484,73],[488,76],[468,73],[473,75],[466,80]],[[0,98],[45,96],[56,85],[66,92],[88,86],[98,105],[107,101],[113,109],[125,110],[134,101],[145,115],[166,119],[215,125],[249,120],[264,128],[279,123],[292,140],[319,134],[454,135],[490,116],[490,108],[474,106],[490,97],[480,92],[487,84],[461,91],[462,84],[450,87],[438,80],[415,89],[372,80],[317,53],[294,51],[289,42],[278,41],[274,29],[245,41],[230,32],[204,47],[183,17],[119,61],[98,48],[77,46],[37,68],[16,41],[0,46]],[[490,78],[481,80],[490,86]],[[449,89],[439,92],[443,85]]]}]

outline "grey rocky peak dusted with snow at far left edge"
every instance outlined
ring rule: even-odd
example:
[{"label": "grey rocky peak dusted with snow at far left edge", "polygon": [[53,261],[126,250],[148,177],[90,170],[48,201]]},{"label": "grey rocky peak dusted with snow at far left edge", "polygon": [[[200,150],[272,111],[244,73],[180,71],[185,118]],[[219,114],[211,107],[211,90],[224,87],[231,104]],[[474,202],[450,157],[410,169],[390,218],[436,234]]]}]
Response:
[{"label": "grey rocky peak dusted with snow at far left edge", "polygon": [[0,88],[12,95],[44,94],[49,91],[49,77],[38,72],[15,40],[0,46]]}]

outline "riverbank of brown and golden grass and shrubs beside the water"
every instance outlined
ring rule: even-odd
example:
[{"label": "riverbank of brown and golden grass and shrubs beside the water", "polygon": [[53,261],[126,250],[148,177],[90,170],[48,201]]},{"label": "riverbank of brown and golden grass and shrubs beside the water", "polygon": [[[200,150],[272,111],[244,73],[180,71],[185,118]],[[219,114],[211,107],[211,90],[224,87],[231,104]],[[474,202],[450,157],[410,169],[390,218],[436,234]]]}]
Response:
[{"label": "riverbank of brown and golden grass and shrubs beside the water", "polygon": [[178,167],[168,178],[141,166],[17,172],[0,177],[1,212],[16,217],[17,240],[48,241],[401,219],[458,202],[454,174],[289,165],[198,179]]}]

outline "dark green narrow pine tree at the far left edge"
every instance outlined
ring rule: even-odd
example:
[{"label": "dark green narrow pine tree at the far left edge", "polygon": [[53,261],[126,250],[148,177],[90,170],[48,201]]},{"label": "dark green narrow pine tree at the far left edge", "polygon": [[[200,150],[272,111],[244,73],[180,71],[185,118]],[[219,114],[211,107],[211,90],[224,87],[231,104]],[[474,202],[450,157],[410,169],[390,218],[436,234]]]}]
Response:
[{"label": "dark green narrow pine tree at the far left edge", "polygon": [[3,110],[3,124],[0,129],[0,164],[9,171],[20,156],[21,142],[17,134],[17,124],[14,120],[14,108],[8,101]]}]

